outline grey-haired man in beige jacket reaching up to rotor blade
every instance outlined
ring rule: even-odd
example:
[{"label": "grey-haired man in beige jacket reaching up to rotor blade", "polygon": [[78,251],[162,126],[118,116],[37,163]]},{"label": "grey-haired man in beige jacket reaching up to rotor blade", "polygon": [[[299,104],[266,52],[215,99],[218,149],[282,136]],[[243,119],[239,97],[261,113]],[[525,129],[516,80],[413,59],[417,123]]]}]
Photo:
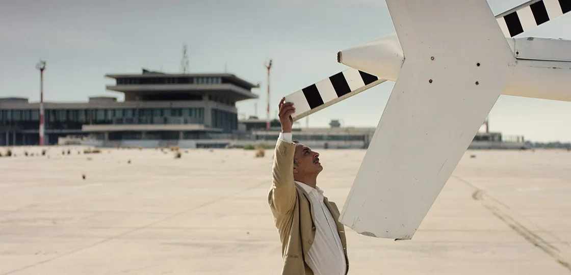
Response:
[{"label": "grey-haired man in beige jacket reaching up to rotor blade", "polygon": [[282,132],[276,143],[268,203],[282,241],[283,275],[345,275],[347,244],[339,209],[316,186],[319,153],[292,140],[293,103],[279,103]]}]

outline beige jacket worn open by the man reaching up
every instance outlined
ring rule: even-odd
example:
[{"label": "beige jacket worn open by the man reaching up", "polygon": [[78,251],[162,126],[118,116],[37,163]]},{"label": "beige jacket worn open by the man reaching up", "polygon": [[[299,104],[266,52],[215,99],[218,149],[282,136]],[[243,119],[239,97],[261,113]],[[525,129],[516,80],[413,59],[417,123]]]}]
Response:
[{"label": "beige jacket worn open by the man reaching up", "polygon": [[[315,238],[313,208],[309,195],[293,181],[293,153],[295,143],[278,139],[274,152],[272,188],[268,194],[268,204],[274,223],[282,241],[283,275],[313,275],[305,262],[309,248]],[[337,223],[337,232],[343,244],[347,271],[347,241],[343,224],[339,223],[339,209],[333,202],[324,199],[325,205]]]}]

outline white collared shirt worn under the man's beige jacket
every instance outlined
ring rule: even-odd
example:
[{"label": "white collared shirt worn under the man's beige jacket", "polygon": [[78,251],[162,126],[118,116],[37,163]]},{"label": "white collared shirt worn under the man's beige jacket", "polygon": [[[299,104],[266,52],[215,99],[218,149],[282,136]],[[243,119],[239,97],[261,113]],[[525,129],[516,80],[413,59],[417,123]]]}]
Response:
[{"label": "white collared shirt worn under the man's beige jacket", "polygon": [[[291,133],[280,133],[280,139],[292,142]],[[337,233],[337,224],[325,205],[323,190],[295,181],[311,198],[313,223],[315,224],[315,240],[309,248],[307,265],[315,275],[345,275],[347,261]]]}]

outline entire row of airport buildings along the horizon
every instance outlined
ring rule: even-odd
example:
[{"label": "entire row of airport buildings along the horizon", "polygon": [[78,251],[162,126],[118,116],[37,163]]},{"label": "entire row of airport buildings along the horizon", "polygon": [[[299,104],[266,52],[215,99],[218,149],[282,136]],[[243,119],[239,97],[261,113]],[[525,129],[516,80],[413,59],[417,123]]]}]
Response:
[{"label": "entire row of airport buildings along the horizon", "polygon": [[[115,80],[106,88],[124,94],[94,96],[87,102],[45,102],[45,143],[58,141],[96,147],[223,148],[274,145],[280,132],[277,119],[238,120],[236,102],[257,99],[258,88],[232,74],[108,74]],[[294,127],[294,138],[312,148],[367,148],[375,128]],[[69,138],[76,136],[81,138]],[[67,137],[67,138],[66,138]],[[39,144],[39,103],[27,98],[0,98],[0,146]],[[478,133],[470,148],[518,149],[522,137]]]}]

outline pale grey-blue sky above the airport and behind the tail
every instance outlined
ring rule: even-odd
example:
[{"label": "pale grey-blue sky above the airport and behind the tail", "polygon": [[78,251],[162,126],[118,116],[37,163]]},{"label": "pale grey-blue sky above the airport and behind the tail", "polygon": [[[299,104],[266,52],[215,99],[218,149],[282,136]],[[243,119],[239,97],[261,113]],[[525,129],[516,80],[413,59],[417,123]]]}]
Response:
[{"label": "pale grey-blue sky above the airport and behind the tail", "polygon": [[[499,14],[525,0],[488,0]],[[571,39],[571,15],[518,37]],[[347,67],[337,51],[394,33],[383,0],[0,0],[0,96],[39,100],[38,59],[47,60],[45,100],[86,101],[105,90],[107,73],[142,67],[179,72],[188,43],[192,72],[228,72],[252,83],[266,117],[266,68],[272,58],[271,117],[282,96]],[[310,127],[375,127],[393,83],[385,82],[309,116]],[[255,114],[255,100],[238,103]],[[490,131],[532,141],[571,141],[571,102],[500,96]],[[305,126],[305,119],[300,120]]]}]

